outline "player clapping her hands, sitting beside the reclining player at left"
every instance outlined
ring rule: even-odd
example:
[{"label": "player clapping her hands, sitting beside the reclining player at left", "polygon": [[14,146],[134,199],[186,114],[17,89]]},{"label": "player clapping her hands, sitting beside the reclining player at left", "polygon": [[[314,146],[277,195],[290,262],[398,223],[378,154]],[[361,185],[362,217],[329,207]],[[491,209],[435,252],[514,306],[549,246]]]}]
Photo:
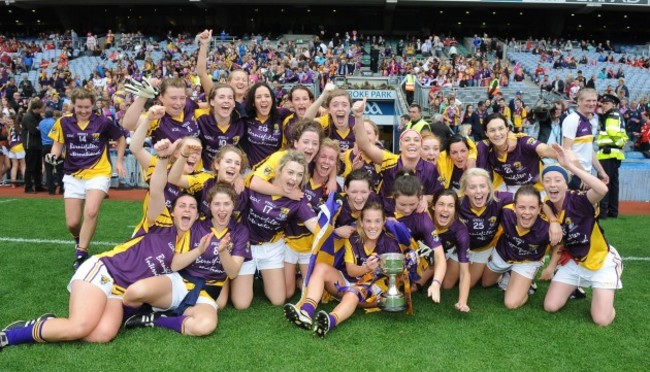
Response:
[{"label": "player clapping her hands, sitting beside the reclining player at left", "polygon": [[[157,311],[129,318],[126,328],[163,327],[190,336],[206,336],[217,327],[217,309],[228,301],[222,290],[250,259],[248,230],[232,218],[238,196],[231,185],[217,183],[208,192],[211,219],[199,221],[190,230],[186,255],[175,255],[172,274],[147,278],[131,285],[124,304],[149,304]],[[209,235],[206,242],[202,237]]]}]

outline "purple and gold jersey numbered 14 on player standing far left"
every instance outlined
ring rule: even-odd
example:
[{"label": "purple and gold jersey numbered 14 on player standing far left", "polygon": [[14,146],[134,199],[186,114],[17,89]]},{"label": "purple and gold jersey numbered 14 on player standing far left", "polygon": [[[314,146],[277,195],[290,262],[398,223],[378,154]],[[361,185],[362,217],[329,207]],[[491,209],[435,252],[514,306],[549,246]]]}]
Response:
[{"label": "purple and gold jersey numbered 14 on player standing far left", "polygon": [[49,137],[65,146],[65,174],[87,180],[111,176],[108,144],[124,134],[106,117],[93,114],[87,123],[79,123],[70,114],[54,123]]}]

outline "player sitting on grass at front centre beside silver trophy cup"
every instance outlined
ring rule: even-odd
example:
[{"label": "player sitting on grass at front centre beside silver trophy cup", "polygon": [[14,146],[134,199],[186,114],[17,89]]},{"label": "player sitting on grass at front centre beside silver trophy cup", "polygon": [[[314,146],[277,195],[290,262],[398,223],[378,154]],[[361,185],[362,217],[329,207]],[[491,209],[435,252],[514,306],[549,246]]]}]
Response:
[{"label": "player sitting on grass at front centre beside silver trophy cup", "polygon": [[[379,203],[368,203],[363,207],[357,222],[357,231],[344,242],[345,269],[319,263],[314,268],[305,300],[298,305],[284,305],[284,313],[290,322],[305,329],[312,329],[315,335],[325,334],[348,319],[357,306],[377,306],[381,288],[375,283],[379,256],[384,253],[400,253],[397,241],[384,232],[386,216]],[[331,313],[323,310],[316,314],[316,306],[323,296],[323,290],[340,299],[341,303]]]}]

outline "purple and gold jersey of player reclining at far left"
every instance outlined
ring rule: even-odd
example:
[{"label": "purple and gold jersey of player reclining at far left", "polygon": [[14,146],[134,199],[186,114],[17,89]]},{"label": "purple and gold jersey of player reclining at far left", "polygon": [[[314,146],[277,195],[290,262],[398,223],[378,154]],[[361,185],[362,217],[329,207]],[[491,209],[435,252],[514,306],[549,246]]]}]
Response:
[{"label": "purple and gold jersey of player reclining at far left", "polygon": [[[96,255],[115,280],[119,292],[140,279],[172,272],[175,252],[189,244],[189,233],[176,240],[175,227],[163,228],[155,234],[139,235],[112,250]],[[186,248],[185,248],[186,249]]]}]

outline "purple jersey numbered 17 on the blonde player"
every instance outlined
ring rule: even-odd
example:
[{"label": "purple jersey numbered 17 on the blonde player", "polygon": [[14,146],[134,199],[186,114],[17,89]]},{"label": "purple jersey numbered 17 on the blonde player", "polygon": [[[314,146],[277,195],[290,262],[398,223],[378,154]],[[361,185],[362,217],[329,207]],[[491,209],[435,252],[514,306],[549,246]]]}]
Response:
[{"label": "purple jersey numbered 17 on the blonde player", "polygon": [[292,219],[305,222],[316,217],[306,198],[292,200],[246,189],[242,194],[246,201],[242,209],[242,222],[248,228],[251,244],[277,241]]}]

